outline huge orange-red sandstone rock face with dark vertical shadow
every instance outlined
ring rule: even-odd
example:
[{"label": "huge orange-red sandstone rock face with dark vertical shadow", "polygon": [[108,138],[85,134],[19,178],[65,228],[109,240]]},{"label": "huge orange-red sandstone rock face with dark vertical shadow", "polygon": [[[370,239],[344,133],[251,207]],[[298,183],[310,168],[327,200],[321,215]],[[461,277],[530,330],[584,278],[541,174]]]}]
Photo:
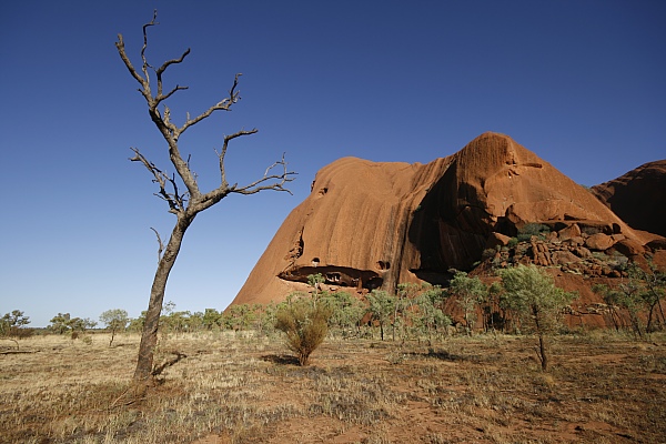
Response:
[{"label": "huge orange-red sandstone rock face with dark vertical shadow", "polygon": [[[444,283],[450,269],[470,270],[488,245],[533,222],[579,243],[555,258],[535,244],[544,263],[573,261],[619,240],[645,244],[588,190],[511,138],[484,133],[427,164],[344,158],[323,168],[233,303],[282,301],[314,273],[360,292]],[[582,233],[602,235],[583,246]]]}]

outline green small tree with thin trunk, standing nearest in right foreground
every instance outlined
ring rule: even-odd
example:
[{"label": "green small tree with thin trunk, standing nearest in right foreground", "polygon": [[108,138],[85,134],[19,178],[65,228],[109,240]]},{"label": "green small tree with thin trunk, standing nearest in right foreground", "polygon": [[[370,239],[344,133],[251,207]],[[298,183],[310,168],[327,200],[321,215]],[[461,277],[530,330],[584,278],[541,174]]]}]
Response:
[{"label": "green small tree with thin trunk, standing nearest in right foreground", "polygon": [[548,354],[545,336],[558,325],[565,306],[575,297],[555,286],[553,278],[535,265],[518,265],[498,271],[505,293],[502,304],[512,310],[522,325],[538,336],[537,354],[542,370],[548,370]]}]

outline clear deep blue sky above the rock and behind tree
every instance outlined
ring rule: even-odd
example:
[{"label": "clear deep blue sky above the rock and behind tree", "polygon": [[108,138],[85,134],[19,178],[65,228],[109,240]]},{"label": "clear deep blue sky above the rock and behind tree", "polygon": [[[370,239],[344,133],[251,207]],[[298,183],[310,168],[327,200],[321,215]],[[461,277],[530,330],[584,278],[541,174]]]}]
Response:
[{"label": "clear deep blue sky above the rock and behind tree", "polygon": [[[189,6],[185,6],[189,4]],[[192,53],[168,71],[189,91],[182,122],[242,101],[181,139],[204,189],[222,137],[231,182],[286,152],[293,196],[231,196],[186,234],[165,300],[224,309],[315,172],[337,158],[428,162],[485,131],[513,137],[578,183],[666,158],[666,2],[12,1],[0,6],[0,315],[42,326],[58,312],[97,320],[145,310],[157,241],[174,216],[137,147],[169,168],[117,33],[139,63]],[[172,170],[171,170],[172,171]]]}]

